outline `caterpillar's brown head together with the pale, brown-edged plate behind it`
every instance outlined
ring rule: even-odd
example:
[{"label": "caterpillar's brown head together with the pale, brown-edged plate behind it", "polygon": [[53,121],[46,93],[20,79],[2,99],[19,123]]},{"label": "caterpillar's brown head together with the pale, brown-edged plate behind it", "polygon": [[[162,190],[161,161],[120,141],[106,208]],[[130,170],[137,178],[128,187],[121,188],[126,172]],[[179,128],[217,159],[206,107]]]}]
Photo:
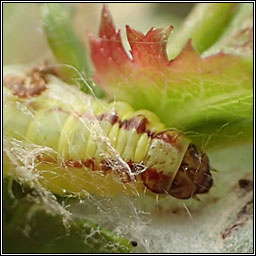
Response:
[{"label": "caterpillar's brown head together with the pale, brown-edged plate behind it", "polygon": [[213,184],[207,155],[176,129],[157,133],[147,153],[144,185],[154,193],[187,199]]}]

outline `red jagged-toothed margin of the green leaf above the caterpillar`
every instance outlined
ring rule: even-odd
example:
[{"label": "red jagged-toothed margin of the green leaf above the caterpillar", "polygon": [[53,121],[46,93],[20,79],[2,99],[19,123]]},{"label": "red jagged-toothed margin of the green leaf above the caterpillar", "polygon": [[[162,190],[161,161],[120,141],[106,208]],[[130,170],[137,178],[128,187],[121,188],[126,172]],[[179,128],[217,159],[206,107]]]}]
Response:
[{"label": "red jagged-toothed margin of the green leaf above the caterpillar", "polygon": [[[152,27],[143,34],[127,25],[126,35],[132,57],[130,58],[123,47],[120,29],[115,28],[111,14],[104,4],[98,37],[88,34],[91,59],[96,69],[95,80],[102,86],[111,86],[113,80],[116,81],[114,76],[120,81],[127,81],[128,76],[136,79],[138,73],[154,80],[166,74],[180,73],[181,70],[197,70],[197,63],[200,63],[201,70],[206,68],[205,72],[208,72],[207,67],[202,65],[202,60],[208,60],[202,59],[193,49],[191,39],[174,60],[168,60],[167,40],[172,29],[173,26],[165,29]],[[167,76],[170,79],[170,76]]]}]

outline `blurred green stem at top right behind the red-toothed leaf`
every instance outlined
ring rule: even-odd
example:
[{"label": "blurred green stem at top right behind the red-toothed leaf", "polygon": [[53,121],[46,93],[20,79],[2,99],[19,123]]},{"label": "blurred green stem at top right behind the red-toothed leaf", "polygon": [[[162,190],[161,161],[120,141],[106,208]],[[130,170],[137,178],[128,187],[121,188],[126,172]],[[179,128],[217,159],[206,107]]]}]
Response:
[{"label": "blurred green stem at top right behind the red-toothed leaf", "polygon": [[200,3],[195,6],[183,26],[168,42],[172,59],[192,38],[193,47],[202,53],[213,45],[232,20],[238,3]]}]

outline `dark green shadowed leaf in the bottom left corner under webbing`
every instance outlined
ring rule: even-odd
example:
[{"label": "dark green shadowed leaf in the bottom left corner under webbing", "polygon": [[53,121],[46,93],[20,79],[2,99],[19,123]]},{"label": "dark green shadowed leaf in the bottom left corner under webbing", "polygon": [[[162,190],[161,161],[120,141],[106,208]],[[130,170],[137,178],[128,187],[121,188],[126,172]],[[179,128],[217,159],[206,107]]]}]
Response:
[{"label": "dark green shadowed leaf in the bottom left corner under webbing", "polygon": [[3,180],[4,253],[128,253],[124,237],[85,221],[72,219],[66,226],[35,197],[33,190]]}]

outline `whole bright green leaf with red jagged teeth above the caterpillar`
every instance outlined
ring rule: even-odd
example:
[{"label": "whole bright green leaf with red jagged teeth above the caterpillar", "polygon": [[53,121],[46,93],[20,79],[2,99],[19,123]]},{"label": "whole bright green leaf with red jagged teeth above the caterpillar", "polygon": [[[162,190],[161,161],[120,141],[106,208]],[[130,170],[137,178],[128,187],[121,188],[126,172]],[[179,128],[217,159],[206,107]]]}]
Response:
[{"label": "whole bright green leaf with red jagged teeth above the caterpillar", "polygon": [[251,140],[252,57],[224,53],[202,57],[189,40],[169,61],[166,39],[171,29],[152,28],[144,35],[127,26],[130,59],[103,9],[99,37],[90,40],[95,77],[107,95],[135,109],[151,110],[167,127],[178,128],[204,145],[204,141],[208,146],[220,144],[217,137],[223,143],[229,137],[239,143]]}]

